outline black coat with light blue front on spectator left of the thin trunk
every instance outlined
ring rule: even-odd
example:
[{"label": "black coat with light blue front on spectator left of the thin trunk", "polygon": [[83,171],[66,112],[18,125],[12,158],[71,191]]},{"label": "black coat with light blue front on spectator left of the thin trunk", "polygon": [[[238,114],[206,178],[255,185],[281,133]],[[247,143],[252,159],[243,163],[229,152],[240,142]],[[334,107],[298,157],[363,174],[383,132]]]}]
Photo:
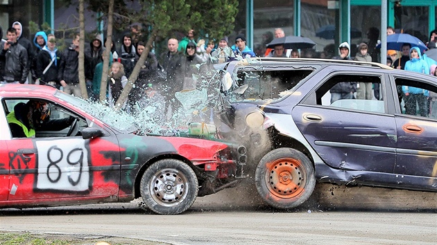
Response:
[{"label": "black coat with light blue front on spectator left of the thin trunk", "polygon": [[[60,64],[60,56],[61,53],[58,52],[58,48],[55,48],[55,50],[51,51],[49,50],[49,48],[47,48],[47,46],[44,46],[44,48],[42,48],[42,51],[37,55],[36,58],[37,78],[40,78],[40,80],[44,82],[56,82],[56,84],[60,86],[58,80],[58,66]],[[53,62],[51,62],[52,60]],[[50,62],[51,65],[49,66]],[[49,69],[47,69],[46,73],[44,73],[44,70],[47,66],[49,66]]]}]

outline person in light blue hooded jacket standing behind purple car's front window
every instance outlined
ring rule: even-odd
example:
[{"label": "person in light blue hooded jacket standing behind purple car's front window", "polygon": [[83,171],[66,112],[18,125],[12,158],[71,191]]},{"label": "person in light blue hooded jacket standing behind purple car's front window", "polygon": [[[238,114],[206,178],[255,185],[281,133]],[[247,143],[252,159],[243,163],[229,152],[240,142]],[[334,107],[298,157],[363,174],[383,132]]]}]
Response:
[{"label": "person in light blue hooded jacket standing behind purple car's front window", "polygon": [[[429,66],[425,60],[422,60],[420,48],[413,47],[410,49],[410,60],[405,63],[404,69],[405,71],[429,74]],[[411,86],[402,86],[402,92],[404,92],[405,114],[415,115],[417,102],[420,116],[426,117],[428,115],[427,98],[429,91]]]}]

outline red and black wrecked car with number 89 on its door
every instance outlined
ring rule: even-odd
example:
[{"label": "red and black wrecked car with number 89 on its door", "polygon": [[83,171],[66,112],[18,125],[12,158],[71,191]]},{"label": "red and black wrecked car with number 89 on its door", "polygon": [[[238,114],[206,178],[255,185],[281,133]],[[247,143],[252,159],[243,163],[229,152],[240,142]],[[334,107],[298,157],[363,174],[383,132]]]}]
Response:
[{"label": "red and black wrecked car with number 89 on its door", "polygon": [[[13,138],[6,116],[30,100],[46,102],[50,120],[74,120],[62,130]],[[126,123],[127,115],[47,86],[0,84],[0,101],[0,208],[141,197],[153,212],[175,215],[198,195],[218,192],[243,177],[246,149],[240,145],[139,135]]]}]

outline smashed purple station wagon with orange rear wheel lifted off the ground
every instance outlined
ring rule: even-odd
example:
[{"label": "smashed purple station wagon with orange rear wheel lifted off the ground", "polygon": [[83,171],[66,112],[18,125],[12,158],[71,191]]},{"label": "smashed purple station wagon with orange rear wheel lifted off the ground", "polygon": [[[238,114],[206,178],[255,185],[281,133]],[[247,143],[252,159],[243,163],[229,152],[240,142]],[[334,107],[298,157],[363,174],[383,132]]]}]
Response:
[{"label": "smashed purple station wagon with orange rear wheel lifted off the ground", "polygon": [[[316,182],[437,191],[437,115],[415,102],[413,112],[406,110],[402,93],[415,87],[426,100],[437,93],[435,76],[376,63],[286,58],[219,69],[216,125],[224,138],[247,145],[257,191],[271,206],[299,206]],[[379,88],[379,100],[331,102],[336,84],[360,82]]]}]

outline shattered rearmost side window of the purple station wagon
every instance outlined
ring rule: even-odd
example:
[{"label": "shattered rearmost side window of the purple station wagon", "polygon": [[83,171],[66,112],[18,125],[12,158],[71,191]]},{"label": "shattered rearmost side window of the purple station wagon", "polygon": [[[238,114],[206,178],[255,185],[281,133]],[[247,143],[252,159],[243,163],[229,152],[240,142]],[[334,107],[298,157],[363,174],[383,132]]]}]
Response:
[{"label": "shattered rearmost side window of the purple station wagon", "polygon": [[[277,100],[287,96],[301,81],[306,80],[314,69],[283,67],[245,67],[232,74],[232,87],[228,91],[230,102],[243,100]],[[229,77],[229,75],[228,75]],[[226,83],[227,78],[223,78]]]}]

